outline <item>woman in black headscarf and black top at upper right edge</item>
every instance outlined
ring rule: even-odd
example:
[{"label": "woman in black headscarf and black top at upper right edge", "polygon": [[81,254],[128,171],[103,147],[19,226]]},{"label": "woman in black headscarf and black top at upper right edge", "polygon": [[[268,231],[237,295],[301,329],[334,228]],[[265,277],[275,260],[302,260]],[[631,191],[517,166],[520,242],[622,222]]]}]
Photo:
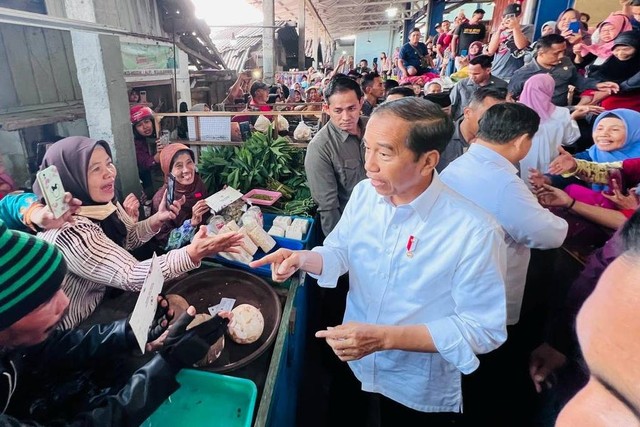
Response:
[{"label": "woman in black headscarf and black top at upper right edge", "polygon": [[579,105],[599,103],[605,110],[627,108],[640,111],[640,32],[625,31],[612,42],[611,56],[602,64],[587,67],[587,77],[611,81],[620,90],[615,94],[584,91]]}]

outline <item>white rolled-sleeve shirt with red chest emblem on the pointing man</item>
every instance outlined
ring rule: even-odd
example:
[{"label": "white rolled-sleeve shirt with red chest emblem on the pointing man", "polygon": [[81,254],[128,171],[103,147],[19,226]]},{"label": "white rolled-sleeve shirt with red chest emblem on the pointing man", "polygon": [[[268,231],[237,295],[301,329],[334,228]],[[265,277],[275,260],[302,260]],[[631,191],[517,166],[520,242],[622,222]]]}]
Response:
[{"label": "white rolled-sleeve shirt with red chest emblem on the pointing man", "polygon": [[[408,256],[410,236],[417,239]],[[379,351],[349,362],[362,389],[423,412],[458,412],[460,372],[506,339],[504,233],[491,215],[434,172],[410,204],[394,206],[367,179],[353,190],[324,246],[318,284],[349,271],[344,322],[417,325],[438,353]]]}]

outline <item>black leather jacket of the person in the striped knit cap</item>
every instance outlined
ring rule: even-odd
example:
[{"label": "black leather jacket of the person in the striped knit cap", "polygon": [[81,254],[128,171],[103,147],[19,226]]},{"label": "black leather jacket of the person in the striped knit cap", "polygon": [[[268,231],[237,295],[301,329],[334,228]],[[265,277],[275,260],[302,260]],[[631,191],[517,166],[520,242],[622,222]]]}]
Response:
[{"label": "black leather jacket of the person in the striped knit cap", "polygon": [[34,347],[0,349],[0,426],[138,426],[178,388],[156,355],[132,375],[126,320],[55,331]]}]

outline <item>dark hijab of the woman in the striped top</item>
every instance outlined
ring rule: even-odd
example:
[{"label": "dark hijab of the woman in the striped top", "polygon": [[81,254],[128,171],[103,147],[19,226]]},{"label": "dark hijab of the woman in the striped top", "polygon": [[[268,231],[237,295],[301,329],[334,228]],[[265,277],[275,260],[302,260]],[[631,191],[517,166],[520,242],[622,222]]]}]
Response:
[{"label": "dark hijab of the woman in the striped top", "polygon": [[[56,168],[58,168],[58,173],[60,174],[60,179],[62,180],[65,191],[69,191],[74,197],[80,199],[83,206],[106,204],[97,203],[91,199],[87,181],[89,161],[91,160],[93,150],[98,145],[105,149],[109,157],[113,158],[111,148],[106,141],[96,141],[95,139],[84,136],[70,136],[61,139],[47,150],[42,159],[40,170],[55,165]],[[42,198],[42,191],[37,182],[33,185],[33,191],[38,197]],[[112,202],[114,204],[116,203],[115,198]],[[119,246],[124,247],[127,228],[118,217],[117,211],[102,221],[94,219],[92,219],[92,221],[96,222],[100,228],[102,228],[102,231],[104,231],[107,237]]]}]

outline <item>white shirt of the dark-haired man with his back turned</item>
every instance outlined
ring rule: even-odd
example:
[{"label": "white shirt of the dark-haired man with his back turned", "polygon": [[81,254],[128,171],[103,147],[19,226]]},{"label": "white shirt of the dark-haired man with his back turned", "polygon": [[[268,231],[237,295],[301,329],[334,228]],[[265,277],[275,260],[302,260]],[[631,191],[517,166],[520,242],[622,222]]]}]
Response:
[{"label": "white shirt of the dark-haired man with his back turned", "polygon": [[455,191],[491,213],[505,230],[507,243],[507,324],[520,319],[530,248],[552,249],[567,236],[567,222],[540,206],[506,158],[472,144],[442,173]]}]

